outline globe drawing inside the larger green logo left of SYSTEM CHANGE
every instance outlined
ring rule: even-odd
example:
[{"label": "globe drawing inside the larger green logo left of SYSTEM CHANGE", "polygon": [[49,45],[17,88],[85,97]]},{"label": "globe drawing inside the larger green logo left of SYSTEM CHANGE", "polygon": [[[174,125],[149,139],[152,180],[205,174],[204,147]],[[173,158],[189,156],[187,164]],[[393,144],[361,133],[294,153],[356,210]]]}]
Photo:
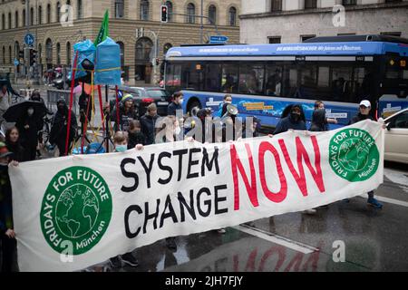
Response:
[{"label": "globe drawing inside the larger green logo left of SYSTEM CHANGE", "polygon": [[58,199],[56,213],[57,225],[66,237],[82,237],[92,230],[98,218],[98,198],[87,186],[73,185]]}]

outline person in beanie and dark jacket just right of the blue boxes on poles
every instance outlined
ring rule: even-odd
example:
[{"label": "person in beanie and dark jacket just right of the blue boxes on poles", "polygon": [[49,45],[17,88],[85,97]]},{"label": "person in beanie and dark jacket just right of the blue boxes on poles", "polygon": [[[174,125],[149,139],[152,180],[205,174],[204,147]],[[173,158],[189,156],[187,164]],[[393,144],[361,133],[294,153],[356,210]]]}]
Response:
[{"label": "person in beanie and dark jacket just right of the blue boxes on poles", "polygon": [[128,131],[129,123],[132,120],[138,119],[138,111],[136,110],[133,103],[133,96],[127,94],[121,98],[121,106],[119,107],[119,124],[117,117],[117,108],[114,108],[112,114],[110,115],[111,121],[115,122],[115,131]]}]

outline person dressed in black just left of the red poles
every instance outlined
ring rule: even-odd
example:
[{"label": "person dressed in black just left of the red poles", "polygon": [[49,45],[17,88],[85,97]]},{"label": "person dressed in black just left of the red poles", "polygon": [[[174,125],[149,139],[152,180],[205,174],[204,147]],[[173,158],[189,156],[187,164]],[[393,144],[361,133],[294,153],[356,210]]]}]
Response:
[{"label": "person dressed in black just left of the red poles", "polygon": [[[53,117],[53,124],[50,132],[50,143],[56,144],[58,150],[60,151],[60,156],[65,156],[65,142],[66,134],[68,129],[68,106],[65,100],[60,99],[57,102],[58,110]],[[78,123],[76,121],[76,116],[71,111],[71,124],[70,124],[70,137],[68,140],[68,148],[71,148],[73,140],[77,134]]]}]

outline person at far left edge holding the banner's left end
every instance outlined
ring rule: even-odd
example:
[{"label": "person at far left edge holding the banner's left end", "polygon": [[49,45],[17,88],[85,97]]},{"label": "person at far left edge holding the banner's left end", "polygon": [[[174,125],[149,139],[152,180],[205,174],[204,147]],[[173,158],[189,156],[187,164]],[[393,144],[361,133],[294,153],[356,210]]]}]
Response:
[{"label": "person at far left edge holding the banner's left end", "polygon": [[[8,163],[13,153],[0,142],[0,237],[2,272],[11,272],[15,256],[15,230],[13,227],[12,188],[8,175]],[[18,163],[13,162],[16,166]]]}]

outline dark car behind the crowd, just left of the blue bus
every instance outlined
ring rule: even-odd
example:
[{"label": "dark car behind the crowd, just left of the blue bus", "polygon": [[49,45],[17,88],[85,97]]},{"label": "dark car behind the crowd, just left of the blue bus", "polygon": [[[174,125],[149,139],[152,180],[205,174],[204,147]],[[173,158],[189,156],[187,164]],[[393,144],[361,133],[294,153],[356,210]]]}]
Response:
[{"label": "dark car behind the crowd, just left of the blue bus", "polygon": [[160,87],[131,87],[139,93],[139,114],[142,116],[146,112],[146,107],[152,102],[156,103],[157,113],[160,116],[167,115],[167,107],[171,102],[171,93]]}]

